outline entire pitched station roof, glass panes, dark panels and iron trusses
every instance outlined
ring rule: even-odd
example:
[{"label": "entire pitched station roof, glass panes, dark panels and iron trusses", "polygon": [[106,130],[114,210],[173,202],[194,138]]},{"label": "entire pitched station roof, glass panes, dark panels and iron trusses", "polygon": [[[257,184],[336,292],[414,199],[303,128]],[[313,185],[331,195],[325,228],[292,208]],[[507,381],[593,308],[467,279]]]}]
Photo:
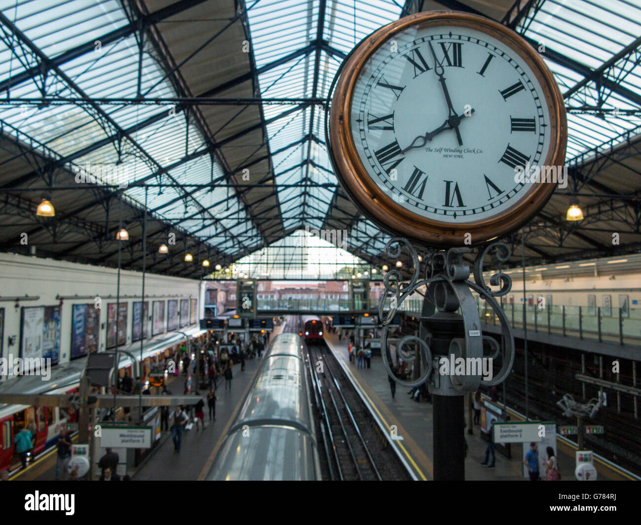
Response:
[{"label": "entire pitched station roof, glass panes, dark panels and iron trusses", "polygon": [[[570,185],[506,238],[515,261],[521,233],[532,263],[638,251],[629,0],[0,0],[0,249],[197,277],[307,227],[346,231],[380,267],[389,237],[338,186],[325,102],[363,37],[435,9],[515,29],[565,99]],[[570,197],[583,221],[565,221]],[[36,215],[42,198],[54,217]]]}]

